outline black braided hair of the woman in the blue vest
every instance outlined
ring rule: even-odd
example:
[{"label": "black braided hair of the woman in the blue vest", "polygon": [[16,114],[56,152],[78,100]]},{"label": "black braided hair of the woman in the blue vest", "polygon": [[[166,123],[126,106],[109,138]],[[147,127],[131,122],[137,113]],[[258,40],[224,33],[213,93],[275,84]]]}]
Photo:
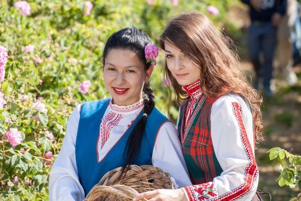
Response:
[{"label": "black braided hair of the woman in the blue vest", "polygon": [[[152,43],[152,41],[143,31],[137,29],[136,27],[125,28],[113,33],[108,38],[103,50],[103,55],[100,57],[100,59],[102,59],[104,66],[105,58],[111,49],[130,50],[133,51],[144,64],[144,70],[146,71],[150,65],[152,65],[150,62],[146,63],[144,53],[144,47],[149,43]],[[142,95],[144,104],[143,112],[146,115],[149,115],[155,107],[155,95],[152,88],[150,88],[148,81],[144,82]],[[122,172],[125,169],[127,170],[127,167],[133,163],[137,154],[139,153],[142,137],[145,132],[146,119],[147,116],[143,115],[129,135],[123,153],[124,164],[122,167]]]}]

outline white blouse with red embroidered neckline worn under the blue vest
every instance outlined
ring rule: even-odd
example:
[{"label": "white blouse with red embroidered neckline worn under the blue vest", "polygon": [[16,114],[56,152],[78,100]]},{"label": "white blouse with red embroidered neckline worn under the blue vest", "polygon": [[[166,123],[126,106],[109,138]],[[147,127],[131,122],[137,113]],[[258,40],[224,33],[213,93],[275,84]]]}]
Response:
[{"label": "white blouse with red embroidered neckline worn under the blue vest", "polygon": [[[110,101],[100,125],[97,142],[97,160],[104,156],[120,139],[123,133],[143,109],[143,99],[131,106],[117,106]],[[83,200],[84,190],[79,182],[75,160],[75,143],[80,106],[71,114],[62,149],[53,164],[49,178],[49,200]],[[154,166],[169,172],[179,187],[191,185],[188,170],[183,158],[178,132],[171,122],[160,128],[153,150]]]}]

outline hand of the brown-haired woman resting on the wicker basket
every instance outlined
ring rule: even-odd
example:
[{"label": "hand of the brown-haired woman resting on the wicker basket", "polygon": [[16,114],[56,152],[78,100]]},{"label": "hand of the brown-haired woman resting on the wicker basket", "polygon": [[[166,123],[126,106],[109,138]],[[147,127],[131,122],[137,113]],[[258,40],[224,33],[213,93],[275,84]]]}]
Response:
[{"label": "hand of the brown-haired woman resting on the wicker basket", "polygon": [[182,189],[169,190],[160,189],[148,192],[142,192],[133,198],[133,201],[146,198],[148,201],[187,201],[186,195]]}]

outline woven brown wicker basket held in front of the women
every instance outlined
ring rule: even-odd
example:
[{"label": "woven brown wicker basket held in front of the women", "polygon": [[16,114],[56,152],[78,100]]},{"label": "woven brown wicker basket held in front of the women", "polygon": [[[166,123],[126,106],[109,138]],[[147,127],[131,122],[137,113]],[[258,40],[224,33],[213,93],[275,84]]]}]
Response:
[{"label": "woven brown wicker basket held in front of the women", "polygon": [[[169,173],[152,165],[131,165],[119,179],[121,167],[107,172],[89,192],[84,201],[132,201],[141,192],[155,189],[175,189]],[[146,200],[146,199],[144,199]]]}]

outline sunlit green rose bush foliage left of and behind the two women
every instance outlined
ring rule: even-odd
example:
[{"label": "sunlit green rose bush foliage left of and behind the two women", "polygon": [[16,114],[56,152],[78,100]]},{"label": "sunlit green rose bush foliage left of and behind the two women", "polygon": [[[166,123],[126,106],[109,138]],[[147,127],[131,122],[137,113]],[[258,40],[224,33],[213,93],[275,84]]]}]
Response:
[{"label": "sunlit green rose bush foliage left of and behind the two women", "polygon": [[[220,11],[210,16],[216,26],[228,26],[228,32],[238,33],[235,24],[225,18],[238,0],[179,1],[177,7],[167,0],[155,2],[149,6],[139,0],[96,0],[89,16],[83,15],[84,2],[79,0],[31,0],[29,16],[14,8],[15,1],[1,2],[0,45],[7,48],[9,58],[0,87],[7,101],[0,110],[0,200],[48,199],[47,178],[62,146],[69,115],[80,103],[109,97],[95,61],[113,32],[134,25],[156,43],[155,36],[179,9],[209,15],[207,7],[214,5]],[[27,45],[33,45],[33,51],[26,53]],[[169,91],[162,84],[164,59],[161,54],[150,83],[156,106],[165,114],[170,110],[176,119],[178,109],[174,99],[168,104]],[[79,86],[85,80],[91,80],[92,86],[84,94]],[[43,105],[37,106],[37,99]],[[7,140],[10,129],[20,131],[22,142],[16,147]],[[49,153],[54,157],[49,159]],[[19,181],[14,183],[15,176]]]}]

